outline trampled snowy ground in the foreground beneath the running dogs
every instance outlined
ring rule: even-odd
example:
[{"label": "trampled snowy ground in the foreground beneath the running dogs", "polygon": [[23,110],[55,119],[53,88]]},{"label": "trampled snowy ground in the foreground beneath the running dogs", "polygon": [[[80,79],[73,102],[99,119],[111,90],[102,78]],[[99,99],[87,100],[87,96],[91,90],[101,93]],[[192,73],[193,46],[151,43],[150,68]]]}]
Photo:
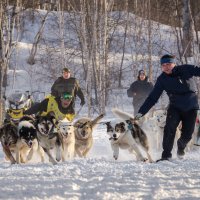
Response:
[{"label": "trampled snowy ground in the foreground beneath the running dogs", "polygon": [[[103,121],[112,120],[106,116]],[[151,141],[155,133],[148,132]],[[151,145],[154,160],[161,150]],[[112,158],[106,127],[94,131],[94,146],[87,159],[52,165],[37,163],[10,165],[0,150],[0,199],[199,199],[200,149],[187,152],[184,160],[142,163],[127,151]]]}]

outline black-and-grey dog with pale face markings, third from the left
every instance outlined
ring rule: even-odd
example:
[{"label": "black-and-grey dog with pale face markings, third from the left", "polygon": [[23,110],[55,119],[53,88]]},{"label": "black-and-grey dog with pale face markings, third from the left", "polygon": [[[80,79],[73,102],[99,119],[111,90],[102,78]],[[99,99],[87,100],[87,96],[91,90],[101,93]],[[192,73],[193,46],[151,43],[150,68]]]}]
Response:
[{"label": "black-and-grey dog with pale face markings, third from the left", "polygon": [[[35,123],[39,144],[53,164],[57,164],[57,161],[61,160],[61,137],[55,129],[56,123],[55,117],[52,115],[37,116]],[[51,149],[56,149],[57,161],[50,152]]]}]

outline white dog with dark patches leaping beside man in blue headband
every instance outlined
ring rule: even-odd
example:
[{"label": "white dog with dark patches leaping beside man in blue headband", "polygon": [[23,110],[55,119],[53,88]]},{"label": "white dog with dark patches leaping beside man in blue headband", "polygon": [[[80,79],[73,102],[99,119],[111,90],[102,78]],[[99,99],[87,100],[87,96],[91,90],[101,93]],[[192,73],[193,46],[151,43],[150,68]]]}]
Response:
[{"label": "white dog with dark patches leaping beside man in blue headband", "polygon": [[[134,117],[119,109],[112,109],[112,112],[120,118],[116,122],[106,122],[107,133],[110,136],[111,148],[113,150],[113,157],[115,160],[119,157],[119,149],[128,149],[130,153],[135,153],[137,160],[152,162],[149,154],[149,144],[147,136],[140,128]],[[141,153],[143,149],[147,158]]]}]

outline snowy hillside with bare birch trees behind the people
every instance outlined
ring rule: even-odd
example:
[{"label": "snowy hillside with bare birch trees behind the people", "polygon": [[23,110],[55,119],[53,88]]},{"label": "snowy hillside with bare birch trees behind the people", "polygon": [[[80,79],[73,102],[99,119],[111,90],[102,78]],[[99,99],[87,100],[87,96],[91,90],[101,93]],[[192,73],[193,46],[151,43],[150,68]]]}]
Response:
[{"label": "snowy hillside with bare birch trees behind the people", "polygon": [[71,68],[90,116],[126,95],[139,69],[154,83],[163,54],[199,65],[199,31],[199,0],[1,0],[1,119],[9,70],[47,93]]}]

